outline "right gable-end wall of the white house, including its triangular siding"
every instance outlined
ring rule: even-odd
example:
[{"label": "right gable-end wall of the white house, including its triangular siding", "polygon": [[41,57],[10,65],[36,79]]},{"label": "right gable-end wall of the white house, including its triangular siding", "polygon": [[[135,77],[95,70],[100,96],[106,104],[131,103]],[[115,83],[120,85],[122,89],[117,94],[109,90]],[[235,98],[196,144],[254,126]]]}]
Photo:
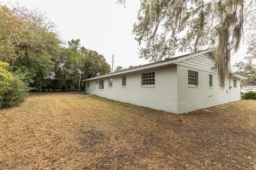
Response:
[{"label": "right gable-end wall of the white house, including its triangular siding", "polygon": [[[214,58],[210,53],[198,55],[177,63],[178,113],[211,107],[240,100],[240,80],[233,88],[233,78],[226,76],[225,88],[219,87],[218,74],[214,71]],[[188,86],[188,70],[198,72],[198,87]],[[209,87],[209,74],[213,75],[213,87]],[[229,89],[229,87],[232,87]]]}]

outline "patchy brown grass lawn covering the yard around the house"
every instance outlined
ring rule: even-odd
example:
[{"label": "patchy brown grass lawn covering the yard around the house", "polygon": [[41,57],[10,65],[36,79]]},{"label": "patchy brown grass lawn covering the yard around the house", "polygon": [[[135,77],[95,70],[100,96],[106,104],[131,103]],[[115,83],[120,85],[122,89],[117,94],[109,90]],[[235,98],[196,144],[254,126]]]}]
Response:
[{"label": "patchy brown grass lawn covering the yard around the house", "polygon": [[77,93],[0,111],[0,169],[253,169],[256,101],[166,114]]}]

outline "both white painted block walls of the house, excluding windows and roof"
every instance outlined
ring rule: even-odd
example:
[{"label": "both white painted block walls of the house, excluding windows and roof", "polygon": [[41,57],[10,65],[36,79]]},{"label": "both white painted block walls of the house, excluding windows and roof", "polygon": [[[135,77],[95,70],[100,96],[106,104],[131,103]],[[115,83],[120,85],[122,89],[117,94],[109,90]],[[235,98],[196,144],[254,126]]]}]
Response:
[{"label": "both white painted block walls of the house, excluding windows and roof", "polygon": [[[233,78],[227,75],[225,88],[220,88],[218,75],[212,71],[213,57],[209,54],[177,64],[108,77],[113,78],[112,88],[108,87],[108,78],[90,80],[89,88],[86,82],[86,93],[172,113],[187,113],[240,100],[240,80],[237,79],[237,88],[234,88]],[[188,70],[198,72],[198,87],[189,87]],[[141,74],[148,72],[155,72],[155,87],[141,86]],[[209,74],[213,75],[212,88],[209,87]],[[126,76],[125,88],[122,76]],[[104,80],[103,90],[99,89],[99,80]]]}]

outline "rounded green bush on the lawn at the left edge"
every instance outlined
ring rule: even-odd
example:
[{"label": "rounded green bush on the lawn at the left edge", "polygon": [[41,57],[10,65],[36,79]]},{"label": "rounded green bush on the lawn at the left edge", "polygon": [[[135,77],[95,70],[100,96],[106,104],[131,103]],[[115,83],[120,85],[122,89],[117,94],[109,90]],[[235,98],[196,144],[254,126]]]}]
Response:
[{"label": "rounded green bush on the lawn at the left edge", "polygon": [[11,80],[7,90],[0,93],[0,108],[11,107],[24,102],[28,96],[28,86],[17,75]]}]

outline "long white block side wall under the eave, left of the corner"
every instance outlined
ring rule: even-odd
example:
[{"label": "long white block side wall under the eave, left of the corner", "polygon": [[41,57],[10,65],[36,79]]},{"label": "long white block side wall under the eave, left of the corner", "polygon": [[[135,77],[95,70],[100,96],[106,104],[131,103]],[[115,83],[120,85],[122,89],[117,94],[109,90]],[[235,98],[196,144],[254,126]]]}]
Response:
[{"label": "long white block side wall under the eave, left of the corner", "polygon": [[[141,86],[141,73],[148,72],[155,72],[155,87]],[[125,88],[122,87],[122,76],[126,76]],[[108,78],[104,78],[103,90],[98,87],[102,79],[91,80],[89,88],[86,84],[86,94],[177,113],[177,65],[109,78],[113,78],[112,88],[108,87]]]}]

